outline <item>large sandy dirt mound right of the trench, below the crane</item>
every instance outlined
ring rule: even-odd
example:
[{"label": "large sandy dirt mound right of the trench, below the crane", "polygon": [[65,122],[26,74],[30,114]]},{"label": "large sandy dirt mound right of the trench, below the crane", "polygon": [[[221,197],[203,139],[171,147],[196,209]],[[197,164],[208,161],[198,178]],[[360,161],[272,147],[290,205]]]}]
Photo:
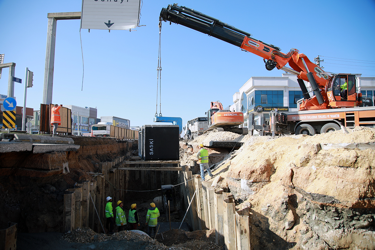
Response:
[{"label": "large sandy dirt mound right of the trench, below the crane", "polygon": [[219,183],[252,210],[253,249],[375,249],[375,129],[245,136],[219,164]]}]

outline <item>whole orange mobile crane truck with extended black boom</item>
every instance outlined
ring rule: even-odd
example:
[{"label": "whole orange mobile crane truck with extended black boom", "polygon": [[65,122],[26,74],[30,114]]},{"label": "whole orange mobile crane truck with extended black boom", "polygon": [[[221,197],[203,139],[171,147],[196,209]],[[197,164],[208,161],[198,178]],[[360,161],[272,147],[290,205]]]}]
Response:
[{"label": "whole orange mobile crane truck with extended black boom", "polygon": [[[159,21],[174,22],[192,28],[259,55],[263,58],[267,70],[276,67],[297,75],[304,100],[299,106],[299,111],[293,113],[293,117],[291,113],[288,116],[286,114],[278,115],[276,123],[280,131],[314,135],[317,132],[337,130],[340,125],[347,127],[375,126],[374,107],[358,107],[362,104],[362,94],[356,91],[356,75],[354,74],[324,72],[305,54],[299,53],[297,49],[292,48],[287,54],[284,54],[275,45],[251,38],[252,34],[250,33],[193,9],[177,6],[177,4],[163,8]],[[286,64],[289,64],[290,67],[285,66]],[[314,96],[310,97],[304,80],[310,82]],[[338,110],[338,108],[348,109],[344,111],[343,109]],[[339,111],[344,113],[327,115]]]}]

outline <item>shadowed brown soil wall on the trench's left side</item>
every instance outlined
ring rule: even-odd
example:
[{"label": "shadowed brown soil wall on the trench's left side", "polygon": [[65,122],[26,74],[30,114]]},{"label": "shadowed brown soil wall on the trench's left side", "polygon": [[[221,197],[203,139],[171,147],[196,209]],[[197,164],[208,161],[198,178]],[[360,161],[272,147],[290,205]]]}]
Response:
[{"label": "shadowed brown soil wall on the trench's left side", "polygon": [[[18,223],[19,232],[62,232],[63,195],[75,183],[92,180],[98,163],[124,156],[137,141],[72,136],[77,151],[0,154],[0,228]],[[63,174],[63,163],[69,173]]]}]

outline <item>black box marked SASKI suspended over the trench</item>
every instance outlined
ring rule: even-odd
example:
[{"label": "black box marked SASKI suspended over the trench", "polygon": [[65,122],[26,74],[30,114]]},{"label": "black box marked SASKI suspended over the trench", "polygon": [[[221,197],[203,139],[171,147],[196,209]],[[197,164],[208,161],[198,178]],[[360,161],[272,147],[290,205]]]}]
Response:
[{"label": "black box marked SASKI suspended over the trench", "polygon": [[179,160],[178,125],[143,125],[138,131],[138,156],[143,160]]}]

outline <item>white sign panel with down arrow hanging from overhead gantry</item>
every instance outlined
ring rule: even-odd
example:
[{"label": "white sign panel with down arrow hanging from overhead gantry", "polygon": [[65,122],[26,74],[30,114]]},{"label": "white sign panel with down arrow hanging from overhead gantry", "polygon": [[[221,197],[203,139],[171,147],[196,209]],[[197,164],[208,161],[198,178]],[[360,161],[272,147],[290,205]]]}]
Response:
[{"label": "white sign panel with down arrow hanging from overhead gantry", "polygon": [[82,0],[81,28],[127,30],[139,25],[141,0]]}]

